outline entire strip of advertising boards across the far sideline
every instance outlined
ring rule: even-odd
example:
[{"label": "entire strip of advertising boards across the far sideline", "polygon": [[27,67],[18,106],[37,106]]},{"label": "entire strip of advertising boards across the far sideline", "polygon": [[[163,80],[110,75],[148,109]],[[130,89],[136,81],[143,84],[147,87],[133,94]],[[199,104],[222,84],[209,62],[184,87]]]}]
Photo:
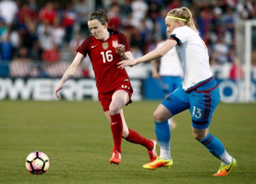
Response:
[{"label": "entire strip of advertising boards across the far sideline", "polygon": [[[56,100],[54,88],[59,79],[8,79],[0,78],[0,100],[9,98],[11,100]],[[152,79],[131,80],[134,94],[132,100],[161,100],[164,98],[161,89]],[[144,83],[144,85],[142,85]],[[244,98],[244,82],[232,80],[218,80],[221,101],[224,103],[235,103]],[[256,101],[256,81],[251,81],[251,102]],[[150,90],[151,89],[151,90]],[[142,93],[142,91],[144,93]],[[98,100],[97,88],[94,79],[71,79],[67,81],[60,92],[66,100],[83,100],[91,98]]]}]

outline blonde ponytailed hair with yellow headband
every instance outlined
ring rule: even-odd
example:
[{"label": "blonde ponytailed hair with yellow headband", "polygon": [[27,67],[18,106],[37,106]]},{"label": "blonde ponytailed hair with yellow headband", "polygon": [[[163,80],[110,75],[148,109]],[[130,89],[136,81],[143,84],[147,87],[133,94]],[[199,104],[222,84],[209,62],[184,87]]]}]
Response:
[{"label": "blonde ponytailed hair with yellow headband", "polygon": [[167,16],[174,16],[175,18],[180,18],[180,19],[185,19],[187,21],[183,21],[185,23],[186,26],[188,26],[189,28],[195,30],[195,32],[198,33],[197,28],[195,28],[195,24],[192,18],[192,14],[189,11],[188,8],[186,7],[181,7],[181,8],[175,8],[172,9],[171,11],[169,11],[167,13]]}]

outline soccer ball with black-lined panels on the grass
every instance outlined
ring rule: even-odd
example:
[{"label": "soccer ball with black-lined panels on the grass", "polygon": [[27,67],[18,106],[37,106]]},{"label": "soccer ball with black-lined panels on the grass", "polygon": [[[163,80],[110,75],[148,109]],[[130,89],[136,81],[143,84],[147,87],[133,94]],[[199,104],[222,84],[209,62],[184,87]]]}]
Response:
[{"label": "soccer ball with black-lined panels on the grass", "polygon": [[49,169],[49,158],[42,151],[35,151],[26,157],[26,169],[34,175],[41,175]]}]

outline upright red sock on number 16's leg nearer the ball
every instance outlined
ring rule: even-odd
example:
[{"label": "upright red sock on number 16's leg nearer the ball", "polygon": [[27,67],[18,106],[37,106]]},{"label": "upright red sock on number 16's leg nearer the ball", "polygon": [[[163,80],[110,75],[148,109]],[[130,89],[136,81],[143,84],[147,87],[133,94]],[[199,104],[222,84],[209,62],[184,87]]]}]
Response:
[{"label": "upright red sock on number 16's leg nearer the ball", "polygon": [[114,151],[117,150],[120,154],[122,143],[122,118],[120,113],[110,115],[111,117],[111,131],[114,139]]}]

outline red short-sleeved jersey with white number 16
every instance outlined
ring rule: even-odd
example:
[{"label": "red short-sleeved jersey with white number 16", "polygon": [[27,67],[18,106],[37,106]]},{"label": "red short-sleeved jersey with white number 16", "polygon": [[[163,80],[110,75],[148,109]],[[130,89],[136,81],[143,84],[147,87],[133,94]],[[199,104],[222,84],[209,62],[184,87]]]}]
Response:
[{"label": "red short-sleeved jersey with white number 16", "polygon": [[125,46],[125,52],[130,51],[127,38],[121,32],[108,29],[109,38],[105,41],[91,36],[84,40],[77,52],[88,56],[94,69],[98,93],[115,90],[121,84],[129,84],[129,77],[125,69],[119,69],[117,63],[121,57],[115,52],[118,44]]}]

